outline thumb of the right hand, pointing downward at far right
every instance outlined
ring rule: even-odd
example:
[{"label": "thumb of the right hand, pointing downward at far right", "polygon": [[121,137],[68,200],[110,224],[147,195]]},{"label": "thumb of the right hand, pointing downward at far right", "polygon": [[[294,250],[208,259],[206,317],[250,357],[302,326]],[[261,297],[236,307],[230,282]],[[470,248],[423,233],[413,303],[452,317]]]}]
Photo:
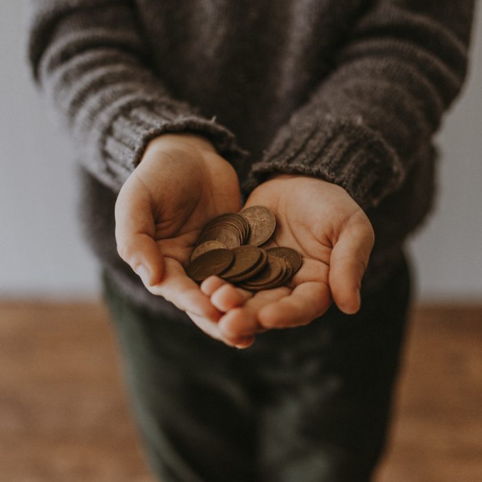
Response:
[{"label": "thumb of the right hand, pointing downward at far right", "polygon": [[367,220],[348,224],[333,247],[329,284],[333,300],[348,315],[356,313],[360,308],[359,290],[373,242],[373,229]]}]

